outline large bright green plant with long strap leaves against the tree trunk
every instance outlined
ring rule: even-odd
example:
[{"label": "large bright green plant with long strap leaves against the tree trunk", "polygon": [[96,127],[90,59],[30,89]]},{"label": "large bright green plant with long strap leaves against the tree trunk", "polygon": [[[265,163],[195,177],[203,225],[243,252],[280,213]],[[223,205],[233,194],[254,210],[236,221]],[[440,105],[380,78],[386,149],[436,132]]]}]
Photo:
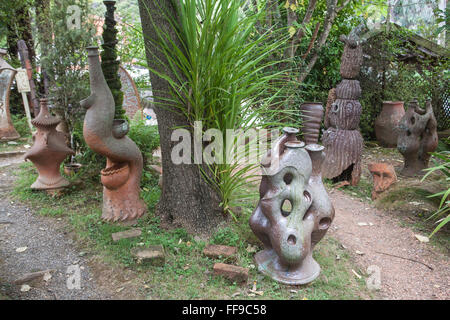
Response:
[{"label": "large bright green plant with long strap leaves against the tree trunk", "polygon": [[[246,1],[177,3],[178,20],[167,20],[177,30],[181,46],[168,40],[170,37],[156,27],[157,45],[163,48],[169,62],[166,67],[176,75],[172,79],[152,70],[171,86],[172,98],[164,103],[180,110],[192,127],[195,121],[202,121],[204,131],[218,129],[227,144],[221,159],[227,158],[227,150],[241,143],[236,137],[227,141],[227,129],[241,130],[245,136],[256,127],[277,128],[281,122],[298,126],[279,116],[278,104],[292,95],[286,70],[281,68],[285,61],[273,59],[276,52],[284,50],[286,30],[280,36],[274,36],[278,31],[273,29],[257,33],[255,24],[264,19],[264,11],[250,9]],[[285,107],[282,112],[286,117],[292,115]],[[230,213],[230,207],[252,196],[247,186],[257,178],[253,173],[257,161],[243,164],[240,160],[245,156],[248,150],[238,152],[232,163],[210,163],[203,170],[204,177],[219,191],[223,209]]]}]

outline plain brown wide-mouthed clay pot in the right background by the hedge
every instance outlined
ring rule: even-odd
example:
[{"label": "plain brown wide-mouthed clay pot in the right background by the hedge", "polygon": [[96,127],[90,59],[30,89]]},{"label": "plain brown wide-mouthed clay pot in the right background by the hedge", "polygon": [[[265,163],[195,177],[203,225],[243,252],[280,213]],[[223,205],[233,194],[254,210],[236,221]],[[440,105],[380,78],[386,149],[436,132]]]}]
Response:
[{"label": "plain brown wide-mouthed clay pot in the right background by the hedge", "polygon": [[384,101],[383,109],[375,120],[377,141],[385,148],[397,147],[398,124],[405,114],[403,101]]}]

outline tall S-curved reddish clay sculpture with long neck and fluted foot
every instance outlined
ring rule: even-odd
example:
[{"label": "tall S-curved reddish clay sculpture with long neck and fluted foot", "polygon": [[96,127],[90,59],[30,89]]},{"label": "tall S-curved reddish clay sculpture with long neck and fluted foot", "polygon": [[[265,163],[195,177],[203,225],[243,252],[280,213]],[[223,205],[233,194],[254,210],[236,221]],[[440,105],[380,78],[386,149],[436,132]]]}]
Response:
[{"label": "tall S-curved reddish clay sculpture with long neck and fluted foot", "polygon": [[139,198],[142,154],[126,136],[127,122],[114,119],[114,99],[103,76],[98,48],[87,50],[91,95],[80,104],[87,109],[84,139],[94,152],[106,157],[106,168],[101,171],[102,218],[112,222],[133,221],[146,210]]}]

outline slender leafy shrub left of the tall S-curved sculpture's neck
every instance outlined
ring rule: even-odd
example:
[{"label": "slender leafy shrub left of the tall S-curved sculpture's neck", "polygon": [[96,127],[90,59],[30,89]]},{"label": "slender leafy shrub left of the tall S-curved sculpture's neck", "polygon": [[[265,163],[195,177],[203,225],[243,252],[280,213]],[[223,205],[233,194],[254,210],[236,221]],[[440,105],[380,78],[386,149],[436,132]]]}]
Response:
[{"label": "slender leafy shrub left of the tall S-curved sculpture's neck", "polygon": [[50,48],[41,57],[42,68],[49,77],[49,98],[52,109],[60,116],[73,136],[73,146],[77,152],[84,152],[83,117],[85,110],[80,101],[89,95],[89,74],[86,47],[95,40],[95,28],[88,19],[87,0],[80,0],[81,28],[67,28],[67,1],[58,0],[49,11],[49,24],[54,33]]}]

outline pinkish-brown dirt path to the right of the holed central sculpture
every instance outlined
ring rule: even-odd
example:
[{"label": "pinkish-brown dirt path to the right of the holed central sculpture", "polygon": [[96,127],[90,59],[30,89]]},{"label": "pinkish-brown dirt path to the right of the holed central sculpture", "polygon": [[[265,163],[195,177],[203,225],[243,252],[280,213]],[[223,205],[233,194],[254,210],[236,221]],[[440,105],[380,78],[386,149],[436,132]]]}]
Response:
[{"label": "pinkish-brown dirt path to the right of the holed central sculpture", "polygon": [[[339,190],[332,190],[330,197],[336,209],[330,235],[349,250],[361,270],[367,272],[369,266],[379,268],[381,299],[450,299],[447,256],[430,244],[419,242],[410,228],[400,226],[388,213]],[[367,225],[359,225],[364,223]],[[379,252],[417,260],[433,270]]]}]

